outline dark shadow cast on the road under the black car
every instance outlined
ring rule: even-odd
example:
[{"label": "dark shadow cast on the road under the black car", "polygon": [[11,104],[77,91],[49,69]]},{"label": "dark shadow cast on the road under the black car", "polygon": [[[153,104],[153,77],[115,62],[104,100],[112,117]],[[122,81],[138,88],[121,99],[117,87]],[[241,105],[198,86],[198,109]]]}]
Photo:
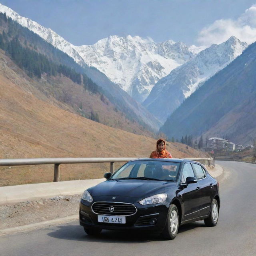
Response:
[{"label": "dark shadow cast on the road under the black car", "polygon": [[[179,232],[205,227],[203,222],[194,222],[180,226]],[[147,243],[150,241],[165,241],[160,236],[132,230],[102,230],[96,236],[88,236],[80,225],[57,226],[49,228],[48,236],[58,239],[75,240],[84,242],[105,242],[105,243]]]}]

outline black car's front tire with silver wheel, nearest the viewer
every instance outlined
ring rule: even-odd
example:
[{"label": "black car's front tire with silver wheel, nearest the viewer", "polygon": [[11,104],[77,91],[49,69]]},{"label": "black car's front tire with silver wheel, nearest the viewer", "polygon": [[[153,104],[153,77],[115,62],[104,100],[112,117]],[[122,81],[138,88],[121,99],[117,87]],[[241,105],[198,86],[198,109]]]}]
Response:
[{"label": "black car's front tire with silver wheel, nearest the viewer", "polygon": [[171,204],[167,214],[167,220],[162,232],[162,237],[168,240],[174,239],[179,229],[179,212],[175,204]]}]

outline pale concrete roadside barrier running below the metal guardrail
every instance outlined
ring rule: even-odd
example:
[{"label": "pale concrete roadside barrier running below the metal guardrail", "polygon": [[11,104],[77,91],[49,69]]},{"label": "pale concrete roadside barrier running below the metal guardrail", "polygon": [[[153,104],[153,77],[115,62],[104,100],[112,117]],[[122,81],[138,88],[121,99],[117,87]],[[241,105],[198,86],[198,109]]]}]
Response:
[{"label": "pale concrete roadside barrier running below the metal guardrail", "polygon": [[[217,180],[220,180],[224,173],[222,167],[217,164],[214,169],[208,171],[211,176]],[[87,188],[95,186],[104,180],[104,178],[94,180],[70,180],[0,187],[0,204],[23,202],[36,198],[50,198],[59,195],[82,194]]]}]

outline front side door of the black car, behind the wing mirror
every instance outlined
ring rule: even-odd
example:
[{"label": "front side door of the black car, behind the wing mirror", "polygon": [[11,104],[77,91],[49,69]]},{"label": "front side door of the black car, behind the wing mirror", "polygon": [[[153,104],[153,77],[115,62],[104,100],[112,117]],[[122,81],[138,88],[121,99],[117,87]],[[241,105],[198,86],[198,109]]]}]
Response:
[{"label": "front side door of the black car, behind the wing mirror", "polygon": [[182,200],[183,221],[192,220],[200,216],[202,204],[200,185],[198,182],[185,184],[187,177],[196,178],[191,163],[184,164],[181,173],[181,185],[183,186],[183,189],[180,191],[180,198]]}]

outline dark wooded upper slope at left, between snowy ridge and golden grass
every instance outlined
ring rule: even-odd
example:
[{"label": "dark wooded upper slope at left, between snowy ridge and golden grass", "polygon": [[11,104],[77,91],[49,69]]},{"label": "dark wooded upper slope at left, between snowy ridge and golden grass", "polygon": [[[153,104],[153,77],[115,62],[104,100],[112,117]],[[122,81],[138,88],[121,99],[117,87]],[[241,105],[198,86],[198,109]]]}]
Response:
[{"label": "dark wooded upper slope at left, between snowy ridge and golden grass", "polygon": [[[132,127],[132,129],[129,128],[128,130],[138,134],[145,134],[145,130],[154,130],[156,132],[157,127],[160,125],[152,114],[117,85],[110,82],[98,70],[89,68],[86,65],[83,67],[78,65],[67,54],[54,48],[37,34],[20,26],[2,13],[0,13],[0,48],[26,74],[40,83],[39,88],[41,91],[51,95],[58,101],[64,101],[75,112],[80,112],[82,116],[88,118],[93,110],[94,116],[103,116],[103,118],[97,118],[99,122],[124,130],[127,130],[129,126],[136,126],[137,128],[133,129]],[[60,75],[66,76],[69,80],[66,81],[65,78],[59,79]],[[41,76],[44,79],[41,79]],[[69,86],[67,88],[59,88],[59,84],[65,83],[65,81],[66,84],[69,83]],[[49,84],[52,86],[49,86]],[[73,90],[73,88],[78,88],[78,85],[80,85],[80,89]],[[99,109],[98,102],[87,100],[88,93],[84,94],[83,89],[90,92],[90,94],[95,94],[94,98],[95,96],[100,96],[105,105],[111,105],[106,107],[110,111],[110,115],[108,115],[110,124],[104,118],[106,116],[104,111],[96,112]],[[86,101],[85,105],[88,108],[84,109],[81,98]],[[91,97],[89,96],[89,98]],[[102,104],[102,102],[99,104]],[[112,110],[110,110],[111,108]],[[111,120],[112,115],[116,116],[114,112],[119,112],[118,118]],[[126,119],[125,124],[122,121],[124,119]],[[128,125],[129,123],[131,125]],[[138,127],[140,128],[138,129]]]}]

